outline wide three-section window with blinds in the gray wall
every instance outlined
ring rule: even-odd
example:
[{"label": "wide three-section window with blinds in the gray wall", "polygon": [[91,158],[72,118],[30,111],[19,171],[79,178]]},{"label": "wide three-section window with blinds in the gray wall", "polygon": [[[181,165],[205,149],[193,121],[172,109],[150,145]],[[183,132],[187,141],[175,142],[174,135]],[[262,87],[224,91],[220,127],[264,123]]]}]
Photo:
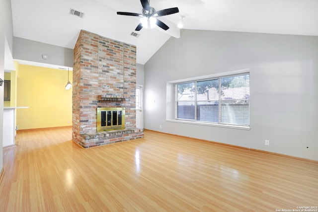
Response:
[{"label": "wide three-section window with blinds in the gray wall", "polygon": [[249,126],[249,73],[175,85],[177,120]]}]

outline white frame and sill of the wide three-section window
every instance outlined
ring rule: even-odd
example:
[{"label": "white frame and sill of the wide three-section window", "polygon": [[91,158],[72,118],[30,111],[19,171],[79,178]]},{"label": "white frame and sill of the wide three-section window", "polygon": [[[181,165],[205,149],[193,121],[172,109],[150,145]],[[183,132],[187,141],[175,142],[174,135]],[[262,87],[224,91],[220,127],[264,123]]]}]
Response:
[{"label": "white frame and sill of the wide three-section window", "polygon": [[[243,75],[243,74],[248,74],[249,80],[248,80],[248,89],[250,88],[250,72],[249,70],[240,70],[240,71],[235,71],[234,72],[226,72],[224,74],[218,74],[217,76],[212,76],[212,77],[196,77],[195,79],[188,79],[188,80],[178,80],[173,82],[174,84],[174,95],[175,95],[175,120],[167,120],[170,122],[182,122],[182,123],[191,123],[191,124],[198,124],[198,125],[208,125],[208,126],[217,126],[217,127],[226,127],[226,128],[236,128],[236,129],[245,129],[249,130],[250,129],[250,92],[249,92],[249,98],[248,100],[248,124],[236,124],[236,123],[225,123],[222,122],[222,103],[226,102],[227,100],[222,99],[222,89],[221,89],[221,79],[224,77],[229,77],[229,76],[236,76],[236,75]],[[207,80],[215,80],[218,79],[218,117],[217,120],[218,122],[209,122],[209,121],[198,121],[197,120],[197,109],[198,109],[198,102],[200,100],[197,99],[197,82],[200,81],[207,81]],[[179,102],[186,102],[186,101],[179,101],[178,100],[178,84],[182,83],[189,83],[189,82],[194,82],[194,119],[183,119],[183,118],[178,118],[178,103]],[[243,99],[232,99],[232,100],[243,100]],[[202,102],[202,100],[201,100]],[[223,111],[224,113],[224,111]]]}]

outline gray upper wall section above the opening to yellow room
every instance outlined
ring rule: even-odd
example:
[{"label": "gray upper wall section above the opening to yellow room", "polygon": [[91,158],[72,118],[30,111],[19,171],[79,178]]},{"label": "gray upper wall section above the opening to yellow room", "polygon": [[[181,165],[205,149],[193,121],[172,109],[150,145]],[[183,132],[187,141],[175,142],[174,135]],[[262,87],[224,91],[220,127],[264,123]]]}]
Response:
[{"label": "gray upper wall section above the opening to yellow room", "polygon": [[[48,59],[42,59],[42,54],[48,55]],[[73,49],[18,37],[13,38],[13,59],[66,67],[74,64]]]}]

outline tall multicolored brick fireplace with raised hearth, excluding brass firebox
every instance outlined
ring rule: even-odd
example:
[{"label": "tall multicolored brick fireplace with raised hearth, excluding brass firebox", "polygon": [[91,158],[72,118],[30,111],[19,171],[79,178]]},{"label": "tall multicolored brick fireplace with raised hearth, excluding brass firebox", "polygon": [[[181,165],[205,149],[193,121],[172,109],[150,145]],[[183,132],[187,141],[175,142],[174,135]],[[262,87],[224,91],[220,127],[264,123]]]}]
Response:
[{"label": "tall multicolored brick fireplace with raised hearth, excluding brass firebox", "polygon": [[[72,139],[82,147],[143,138],[136,128],[136,46],[81,30],[72,101]],[[97,108],[125,108],[124,128],[97,132]]]}]

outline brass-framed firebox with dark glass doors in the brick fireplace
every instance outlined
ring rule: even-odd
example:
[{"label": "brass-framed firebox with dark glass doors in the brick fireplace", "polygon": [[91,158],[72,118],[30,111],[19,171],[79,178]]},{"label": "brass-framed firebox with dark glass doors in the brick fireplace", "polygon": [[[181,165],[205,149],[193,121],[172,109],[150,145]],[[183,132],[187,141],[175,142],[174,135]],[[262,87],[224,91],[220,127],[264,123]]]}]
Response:
[{"label": "brass-framed firebox with dark glass doors in the brick fireplace", "polygon": [[125,108],[97,108],[97,132],[125,129]]}]

